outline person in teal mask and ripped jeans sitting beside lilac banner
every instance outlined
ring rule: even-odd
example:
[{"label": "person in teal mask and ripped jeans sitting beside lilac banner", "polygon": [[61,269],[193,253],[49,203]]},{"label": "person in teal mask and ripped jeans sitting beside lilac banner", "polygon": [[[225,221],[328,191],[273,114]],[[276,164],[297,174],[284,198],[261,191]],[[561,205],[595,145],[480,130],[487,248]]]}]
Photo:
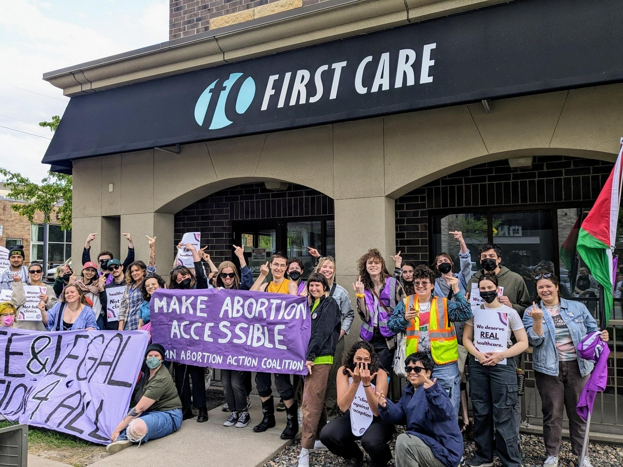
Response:
[{"label": "person in teal mask and ripped jeans sitting beside lilac banner", "polygon": [[106,446],[115,454],[133,443],[146,443],[179,430],[182,425],[182,403],[171,374],[164,367],[164,347],[150,344],[145,352],[149,373],[143,374],[134,391],[134,407],[119,422]]}]

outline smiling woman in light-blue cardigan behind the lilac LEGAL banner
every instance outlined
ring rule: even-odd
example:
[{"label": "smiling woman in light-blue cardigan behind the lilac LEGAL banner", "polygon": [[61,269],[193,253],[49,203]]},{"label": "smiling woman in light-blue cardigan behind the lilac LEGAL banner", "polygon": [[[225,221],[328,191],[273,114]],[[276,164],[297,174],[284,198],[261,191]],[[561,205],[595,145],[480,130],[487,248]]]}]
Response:
[{"label": "smiling woman in light-blue cardigan behind the lilac LEGAL banner", "polygon": [[82,290],[73,282],[65,286],[60,301],[47,311],[45,303],[37,305],[41,312],[41,321],[48,331],[76,331],[77,329],[99,330],[95,321],[95,313],[88,306]]}]

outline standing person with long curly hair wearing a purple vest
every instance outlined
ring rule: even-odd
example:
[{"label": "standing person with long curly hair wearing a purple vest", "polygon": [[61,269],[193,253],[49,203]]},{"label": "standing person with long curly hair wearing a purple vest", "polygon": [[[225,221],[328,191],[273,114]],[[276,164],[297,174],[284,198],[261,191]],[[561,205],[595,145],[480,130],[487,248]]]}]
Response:
[{"label": "standing person with long curly hair wearing a purple vest", "polygon": [[404,298],[402,286],[392,277],[381,252],[371,248],[357,261],[359,278],[353,284],[357,312],[361,317],[359,337],[371,342],[383,369],[391,371],[396,347],[395,331],[388,326],[396,304]]}]

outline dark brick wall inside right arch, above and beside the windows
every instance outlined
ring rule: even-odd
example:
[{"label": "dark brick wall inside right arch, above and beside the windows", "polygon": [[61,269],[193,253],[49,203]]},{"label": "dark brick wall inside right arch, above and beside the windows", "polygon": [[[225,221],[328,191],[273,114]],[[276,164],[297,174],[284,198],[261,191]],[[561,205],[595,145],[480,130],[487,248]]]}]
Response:
[{"label": "dark brick wall inside right arch, above and beside the windows", "polygon": [[531,169],[511,169],[503,159],[454,172],[396,199],[396,251],[429,262],[429,209],[592,201],[611,170],[604,161],[540,156]]}]

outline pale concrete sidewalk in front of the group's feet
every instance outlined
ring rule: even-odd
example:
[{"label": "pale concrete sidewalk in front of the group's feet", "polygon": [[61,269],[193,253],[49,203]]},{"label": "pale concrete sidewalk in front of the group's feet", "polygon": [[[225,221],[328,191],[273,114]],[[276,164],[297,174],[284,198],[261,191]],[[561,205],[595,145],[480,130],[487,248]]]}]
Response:
[{"label": "pale concrete sidewalk in front of the group's feet", "polygon": [[[289,440],[279,435],[285,428],[285,412],[275,412],[277,427],[255,433],[253,427],[262,420],[262,403],[251,396],[251,423],[246,428],[224,427],[229,412],[221,407],[209,412],[209,420],[197,423],[196,418],[185,420],[175,433],[159,440],[130,446],[115,455],[91,464],[92,467],[128,467],[151,465],[157,462],[166,467],[206,465],[255,467],[282,450]],[[275,404],[278,399],[275,400]],[[54,465],[52,464],[54,463]],[[29,455],[29,467],[67,467],[65,464]]]}]

